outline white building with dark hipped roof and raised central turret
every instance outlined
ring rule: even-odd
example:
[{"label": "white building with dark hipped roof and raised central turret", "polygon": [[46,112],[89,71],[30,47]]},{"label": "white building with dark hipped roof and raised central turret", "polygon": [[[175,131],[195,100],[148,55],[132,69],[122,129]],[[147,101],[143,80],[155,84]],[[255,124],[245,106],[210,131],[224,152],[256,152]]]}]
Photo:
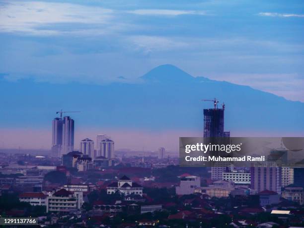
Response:
[{"label": "white building with dark hipped roof and raised central turret", "polygon": [[143,187],[133,182],[129,177],[123,176],[117,182],[113,182],[107,187],[107,194],[119,192],[124,195],[140,195],[143,196]]}]

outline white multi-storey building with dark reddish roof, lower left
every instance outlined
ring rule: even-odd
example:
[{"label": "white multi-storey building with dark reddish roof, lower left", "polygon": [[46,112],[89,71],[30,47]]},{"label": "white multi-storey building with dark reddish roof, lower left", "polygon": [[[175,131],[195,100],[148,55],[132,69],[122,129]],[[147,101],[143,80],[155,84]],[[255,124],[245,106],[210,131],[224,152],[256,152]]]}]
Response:
[{"label": "white multi-storey building with dark reddish roof, lower left", "polygon": [[83,204],[82,192],[71,192],[66,189],[48,193],[47,212],[70,213],[81,209]]}]

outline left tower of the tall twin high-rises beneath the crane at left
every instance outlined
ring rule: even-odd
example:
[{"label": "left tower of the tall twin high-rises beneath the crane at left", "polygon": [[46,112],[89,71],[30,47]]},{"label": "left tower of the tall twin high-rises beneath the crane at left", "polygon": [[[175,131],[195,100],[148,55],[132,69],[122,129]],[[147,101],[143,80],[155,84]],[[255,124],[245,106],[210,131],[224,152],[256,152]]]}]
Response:
[{"label": "left tower of the tall twin high-rises beneath the crane at left", "polygon": [[55,118],[52,121],[52,156],[60,157],[62,149],[62,119]]}]

